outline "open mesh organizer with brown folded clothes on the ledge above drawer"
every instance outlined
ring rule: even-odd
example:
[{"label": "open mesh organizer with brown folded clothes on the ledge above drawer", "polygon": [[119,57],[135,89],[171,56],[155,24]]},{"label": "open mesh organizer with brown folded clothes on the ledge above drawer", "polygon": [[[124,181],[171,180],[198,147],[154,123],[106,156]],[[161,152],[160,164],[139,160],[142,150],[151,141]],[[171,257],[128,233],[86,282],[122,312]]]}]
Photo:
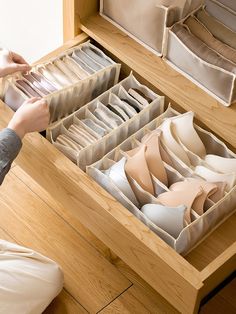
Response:
[{"label": "open mesh organizer with brown folded clothes on the ledge above drawer", "polygon": [[[212,21],[214,20],[214,23],[217,19],[219,25],[224,21],[226,28],[231,27],[232,31],[228,31],[231,33],[235,32],[233,29],[233,21],[234,25],[236,25],[236,12],[233,12],[232,9],[228,9],[216,1],[207,0],[204,7],[192,14],[193,18],[198,20],[198,14],[202,14],[202,12],[205,15],[204,19],[210,17]],[[185,21],[185,19],[182,20],[180,25],[185,25]],[[222,57],[216,50],[208,48],[207,43],[202,43],[196,36],[190,37],[192,32],[191,30],[189,31],[188,26],[185,28],[185,34],[178,35],[177,31],[183,32],[183,30],[175,31],[177,25],[178,23],[168,31],[167,44],[163,56],[164,60],[206,92],[210,93],[223,105],[230,106],[236,101],[235,63]],[[200,25],[206,28],[208,27],[205,21],[202,22],[202,19],[200,19]],[[216,28],[216,26],[214,27]],[[208,28],[206,31],[208,31]],[[208,31],[210,36],[212,36],[211,31],[212,29]],[[182,36],[182,38],[185,36],[184,41],[180,36]],[[236,39],[236,33],[234,33],[234,36]],[[195,40],[198,40],[195,44],[193,42],[194,37]],[[225,37],[227,37],[227,35],[225,35]],[[213,38],[215,39],[216,37],[214,36],[212,39]],[[190,42],[191,39],[192,43]],[[223,44],[222,42],[222,45]],[[189,45],[192,45],[192,47]],[[193,45],[195,46],[193,47]],[[201,45],[203,47],[201,47]],[[198,49],[197,46],[201,48]],[[233,48],[231,50],[233,50]],[[230,49],[230,47],[227,46],[226,49]],[[198,50],[198,53],[195,52],[196,50]],[[236,51],[234,54],[236,54]]]}]

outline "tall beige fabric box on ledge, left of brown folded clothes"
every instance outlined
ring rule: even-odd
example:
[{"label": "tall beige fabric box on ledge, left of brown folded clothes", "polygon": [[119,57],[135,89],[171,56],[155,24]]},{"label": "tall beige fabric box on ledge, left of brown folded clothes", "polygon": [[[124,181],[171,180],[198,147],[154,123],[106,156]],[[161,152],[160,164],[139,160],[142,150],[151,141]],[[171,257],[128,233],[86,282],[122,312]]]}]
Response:
[{"label": "tall beige fabric box on ledge, left of brown folded clothes", "polygon": [[166,28],[203,0],[101,0],[100,14],[147,49],[161,56]]}]

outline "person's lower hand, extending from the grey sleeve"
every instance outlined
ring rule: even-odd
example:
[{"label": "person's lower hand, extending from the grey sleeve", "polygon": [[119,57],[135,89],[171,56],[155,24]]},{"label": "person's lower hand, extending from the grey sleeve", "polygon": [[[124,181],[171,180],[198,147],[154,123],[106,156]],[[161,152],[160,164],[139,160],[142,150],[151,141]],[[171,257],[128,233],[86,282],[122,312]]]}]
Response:
[{"label": "person's lower hand, extending from the grey sleeve", "polygon": [[16,132],[22,139],[26,133],[41,132],[49,124],[49,107],[41,98],[31,98],[25,101],[15,112],[8,128]]}]

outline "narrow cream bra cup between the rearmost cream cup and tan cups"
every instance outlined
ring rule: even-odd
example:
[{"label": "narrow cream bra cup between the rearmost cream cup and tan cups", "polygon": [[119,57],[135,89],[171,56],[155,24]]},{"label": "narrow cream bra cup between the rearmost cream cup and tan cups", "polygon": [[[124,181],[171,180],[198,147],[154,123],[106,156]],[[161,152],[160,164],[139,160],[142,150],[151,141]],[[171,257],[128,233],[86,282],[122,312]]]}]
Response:
[{"label": "narrow cream bra cup between the rearmost cream cup and tan cups", "polygon": [[174,138],[171,127],[172,122],[170,119],[163,122],[160,126],[162,130],[161,140],[179,159],[181,159],[187,166],[190,166],[189,158],[184,149]]}]

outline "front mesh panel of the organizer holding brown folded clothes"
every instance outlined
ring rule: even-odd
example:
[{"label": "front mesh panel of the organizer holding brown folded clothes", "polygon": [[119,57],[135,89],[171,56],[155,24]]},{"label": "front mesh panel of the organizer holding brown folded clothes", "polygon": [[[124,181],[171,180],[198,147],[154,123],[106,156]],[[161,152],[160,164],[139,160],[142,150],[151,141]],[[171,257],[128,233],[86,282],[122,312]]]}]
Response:
[{"label": "front mesh panel of the organizer holding brown folded clothes", "polygon": [[201,59],[181,41],[172,27],[166,34],[163,58],[224,106],[230,106],[236,101],[236,75]]}]

